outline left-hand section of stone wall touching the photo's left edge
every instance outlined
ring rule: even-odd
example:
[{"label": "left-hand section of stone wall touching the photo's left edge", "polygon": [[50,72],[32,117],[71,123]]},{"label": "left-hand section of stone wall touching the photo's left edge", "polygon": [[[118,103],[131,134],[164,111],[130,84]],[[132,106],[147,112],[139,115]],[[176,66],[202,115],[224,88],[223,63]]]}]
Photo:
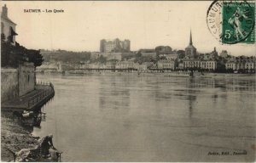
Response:
[{"label": "left-hand section of stone wall touching the photo's left edge", "polygon": [[1,69],[1,102],[19,96],[18,70]]}]

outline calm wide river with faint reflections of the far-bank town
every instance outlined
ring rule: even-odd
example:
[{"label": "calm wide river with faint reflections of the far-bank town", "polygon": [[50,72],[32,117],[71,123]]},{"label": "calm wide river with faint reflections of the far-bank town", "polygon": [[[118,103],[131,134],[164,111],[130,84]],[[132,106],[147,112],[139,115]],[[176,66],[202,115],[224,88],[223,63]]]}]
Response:
[{"label": "calm wide river with faint reflections of the far-bank town", "polygon": [[255,160],[255,76],[37,77],[55,97],[33,134],[53,133],[62,161]]}]

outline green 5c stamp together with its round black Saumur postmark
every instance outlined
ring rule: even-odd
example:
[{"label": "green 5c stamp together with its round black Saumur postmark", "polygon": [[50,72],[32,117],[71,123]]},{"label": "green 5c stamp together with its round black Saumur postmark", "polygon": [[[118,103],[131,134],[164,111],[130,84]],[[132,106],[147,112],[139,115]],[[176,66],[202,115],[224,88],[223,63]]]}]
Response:
[{"label": "green 5c stamp together with its round black Saumur postmark", "polygon": [[207,26],[221,43],[254,43],[254,3],[215,0],[207,10]]}]

